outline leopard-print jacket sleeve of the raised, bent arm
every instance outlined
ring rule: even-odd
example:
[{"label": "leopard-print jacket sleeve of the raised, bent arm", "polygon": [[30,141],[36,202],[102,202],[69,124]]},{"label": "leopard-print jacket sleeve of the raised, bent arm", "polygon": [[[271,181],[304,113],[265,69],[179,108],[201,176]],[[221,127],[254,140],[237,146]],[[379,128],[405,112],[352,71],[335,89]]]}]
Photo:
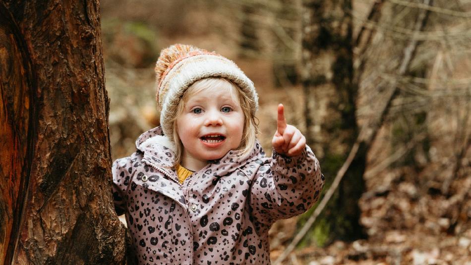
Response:
[{"label": "leopard-print jacket sleeve of the raised, bent arm", "polygon": [[251,214],[267,225],[306,212],[324,187],[319,161],[306,145],[301,155],[285,157],[273,151],[261,164],[251,185]]}]

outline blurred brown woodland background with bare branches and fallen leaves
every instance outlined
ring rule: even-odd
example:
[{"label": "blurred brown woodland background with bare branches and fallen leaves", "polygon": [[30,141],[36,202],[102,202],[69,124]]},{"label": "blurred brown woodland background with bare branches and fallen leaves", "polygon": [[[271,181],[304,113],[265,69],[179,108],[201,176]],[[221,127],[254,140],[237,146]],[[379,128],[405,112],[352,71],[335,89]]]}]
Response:
[{"label": "blurred brown woodland background with bare branches and fallen leaves", "polygon": [[255,83],[267,153],[283,103],[326,176],[329,200],[271,229],[273,263],[471,264],[470,0],[103,0],[101,19],[113,159],[159,125],[159,51],[216,51]]}]

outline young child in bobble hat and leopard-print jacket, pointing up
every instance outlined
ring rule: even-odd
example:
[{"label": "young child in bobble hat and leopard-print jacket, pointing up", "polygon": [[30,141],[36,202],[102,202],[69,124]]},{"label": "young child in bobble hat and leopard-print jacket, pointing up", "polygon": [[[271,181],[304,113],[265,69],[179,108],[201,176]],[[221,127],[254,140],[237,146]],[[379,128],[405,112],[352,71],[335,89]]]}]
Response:
[{"label": "young child in bobble hat and leopard-print jacket, pointing up", "polygon": [[270,264],[270,226],[307,211],[324,185],[304,136],[278,106],[266,158],[253,83],[217,53],[173,45],[156,75],[161,127],[113,163],[115,207],[136,262]]}]

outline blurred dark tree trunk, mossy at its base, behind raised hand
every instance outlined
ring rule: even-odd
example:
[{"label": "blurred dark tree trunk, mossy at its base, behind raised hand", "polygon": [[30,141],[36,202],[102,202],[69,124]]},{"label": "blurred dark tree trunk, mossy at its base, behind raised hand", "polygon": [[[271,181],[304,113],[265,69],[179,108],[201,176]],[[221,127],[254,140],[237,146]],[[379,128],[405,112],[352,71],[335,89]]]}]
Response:
[{"label": "blurred dark tree trunk, mossy at its base, behind raised hand", "polygon": [[[358,134],[352,3],[309,0],[303,7],[301,78],[306,99],[306,139],[320,158],[327,190]],[[317,218],[312,231],[318,244],[364,237],[358,200],[365,189],[366,151],[366,145],[361,144],[336,194]]]}]

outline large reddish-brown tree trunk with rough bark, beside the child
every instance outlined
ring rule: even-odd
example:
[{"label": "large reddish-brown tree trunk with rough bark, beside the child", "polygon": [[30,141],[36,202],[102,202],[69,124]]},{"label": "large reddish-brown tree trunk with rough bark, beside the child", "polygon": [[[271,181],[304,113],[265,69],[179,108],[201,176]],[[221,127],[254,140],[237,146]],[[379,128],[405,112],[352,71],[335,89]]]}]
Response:
[{"label": "large reddish-brown tree trunk with rough bark, beside the child", "polygon": [[123,264],[97,1],[0,1],[0,264]]}]

